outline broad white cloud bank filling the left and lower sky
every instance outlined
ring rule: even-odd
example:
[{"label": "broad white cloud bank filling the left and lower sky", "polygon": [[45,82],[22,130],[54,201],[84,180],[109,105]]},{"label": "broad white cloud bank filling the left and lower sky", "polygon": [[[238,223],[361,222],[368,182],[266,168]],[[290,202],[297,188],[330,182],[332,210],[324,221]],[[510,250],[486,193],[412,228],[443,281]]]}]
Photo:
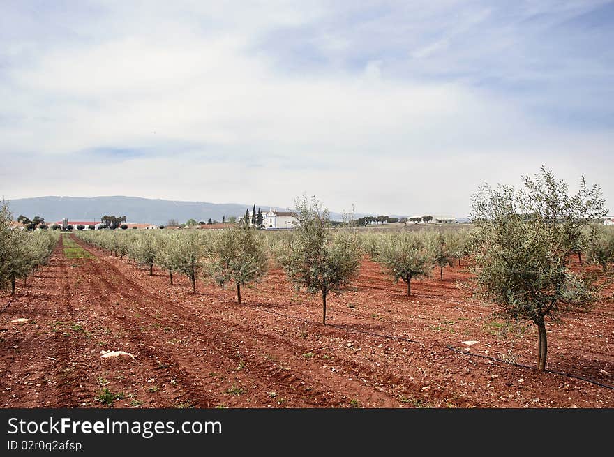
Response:
[{"label": "broad white cloud bank filling the left and lower sky", "polygon": [[[290,75],[255,47],[271,29],[321,20],[322,8],[246,3],[228,15],[218,3],[169,5],[119,2],[70,24],[82,40],[8,44],[0,156],[15,173],[2,176],[0,195],[289,205],[307,191],[335,210],[463,216],[479,183],[517,180],[542,163],[607,185],[597,165],[607,133],[568,132],[462,82],[392,77],[382,59],[360,72]],[[427,58],[447,39],[414,54]],[[334,35],[329,50],[348,43]],[[144,156],[93,158],[102,147]]]}]

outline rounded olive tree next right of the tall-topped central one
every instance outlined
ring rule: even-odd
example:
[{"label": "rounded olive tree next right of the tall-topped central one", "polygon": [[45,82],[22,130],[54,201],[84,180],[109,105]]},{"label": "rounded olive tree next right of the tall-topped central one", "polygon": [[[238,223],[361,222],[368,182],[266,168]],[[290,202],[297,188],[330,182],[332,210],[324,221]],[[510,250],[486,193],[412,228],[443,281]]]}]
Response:
[{"label": "rounded olive tree next right of the tall-topped central one", "polygon": [[430,276],[433,258],[424,236],[417,232],[386,234],[380,239],[375,261],[394,280],[407,283],[407,297],[412,294],[412,279]]}]

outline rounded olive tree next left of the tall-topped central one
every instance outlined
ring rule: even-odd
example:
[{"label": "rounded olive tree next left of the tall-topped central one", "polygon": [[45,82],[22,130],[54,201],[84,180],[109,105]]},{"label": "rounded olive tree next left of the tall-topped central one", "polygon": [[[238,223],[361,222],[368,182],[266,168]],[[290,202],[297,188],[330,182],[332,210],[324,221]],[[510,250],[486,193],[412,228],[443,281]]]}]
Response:
[{"label": "rounded olive tree next left of the tall-topped central one", "polygon": [[267,248],[255,228],[247,225],[224,230],[214,241],[212,274],[219,285],[231,280],[237,286],[241,304],[241,285],[258,280],[267,273]]}]

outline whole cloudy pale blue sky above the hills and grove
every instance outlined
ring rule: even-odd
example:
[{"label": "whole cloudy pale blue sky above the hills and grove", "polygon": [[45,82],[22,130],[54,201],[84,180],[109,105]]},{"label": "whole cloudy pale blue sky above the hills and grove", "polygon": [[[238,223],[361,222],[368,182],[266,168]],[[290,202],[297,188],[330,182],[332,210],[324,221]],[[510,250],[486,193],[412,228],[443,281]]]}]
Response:
[{"label": "whole cloudy pale blue sky above the hills and grove", "polygon": [[0,198],[614,211],[614,2],[0,0]]}]

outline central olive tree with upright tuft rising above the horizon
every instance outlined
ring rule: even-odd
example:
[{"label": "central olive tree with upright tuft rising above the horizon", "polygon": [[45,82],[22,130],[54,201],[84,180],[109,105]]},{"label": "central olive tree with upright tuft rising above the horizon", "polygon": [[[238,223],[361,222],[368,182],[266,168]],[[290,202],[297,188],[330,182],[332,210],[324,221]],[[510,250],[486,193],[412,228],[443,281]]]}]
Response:
[{"label": "central olive tree with upright tuft rising above the horizon", "polygon": [[352,234],[334,235],[329,212],[315,197],[297,199],[296,212],[298,226],[278,262],[297,288],[322,294],[322,324],[326,325],[327,294],[340,290],[357,273],[359,240]]}]

